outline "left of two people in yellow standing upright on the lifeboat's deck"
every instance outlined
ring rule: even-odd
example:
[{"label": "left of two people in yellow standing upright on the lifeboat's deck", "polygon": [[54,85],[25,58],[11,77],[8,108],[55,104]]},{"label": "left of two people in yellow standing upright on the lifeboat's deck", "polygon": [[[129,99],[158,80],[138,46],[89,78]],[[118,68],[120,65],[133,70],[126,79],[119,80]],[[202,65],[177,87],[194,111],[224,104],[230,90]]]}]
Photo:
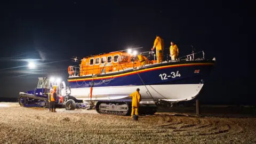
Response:
[{"label": "left of two people in yellow standing upright on the lifeboat's deck", "polygon": [[155,42],[154,42],[154,46],[151,49],[151,51],[153,51],[156,48],[156,60],[157,63],[161,63],[164,59],[163,55],[164,55],[164,40],[159,37],[156,36]]}]

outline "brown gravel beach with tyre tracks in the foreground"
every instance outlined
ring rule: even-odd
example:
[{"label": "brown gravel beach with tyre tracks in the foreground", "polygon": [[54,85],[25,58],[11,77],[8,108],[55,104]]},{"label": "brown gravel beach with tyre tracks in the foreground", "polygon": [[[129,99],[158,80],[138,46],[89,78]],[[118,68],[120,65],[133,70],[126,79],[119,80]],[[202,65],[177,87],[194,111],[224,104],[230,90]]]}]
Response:
[{"label": "brown gravel beach with tyre tracks in the foreground", "polygon": [[140,116],[0,107],[0,143],[256,143],[256,118]]}]

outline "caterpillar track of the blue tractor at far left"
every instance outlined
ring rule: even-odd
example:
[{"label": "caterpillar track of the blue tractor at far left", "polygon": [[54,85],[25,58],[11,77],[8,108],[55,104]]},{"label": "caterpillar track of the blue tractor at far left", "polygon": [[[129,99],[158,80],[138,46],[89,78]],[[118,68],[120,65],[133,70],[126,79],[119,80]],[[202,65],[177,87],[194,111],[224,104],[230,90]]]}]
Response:
[{"label": "caterpillar track of the blue tractor at far left", "polygon": [[48,99],[34,95],[20,95],[19,105],[21,107],[48,107]]}]

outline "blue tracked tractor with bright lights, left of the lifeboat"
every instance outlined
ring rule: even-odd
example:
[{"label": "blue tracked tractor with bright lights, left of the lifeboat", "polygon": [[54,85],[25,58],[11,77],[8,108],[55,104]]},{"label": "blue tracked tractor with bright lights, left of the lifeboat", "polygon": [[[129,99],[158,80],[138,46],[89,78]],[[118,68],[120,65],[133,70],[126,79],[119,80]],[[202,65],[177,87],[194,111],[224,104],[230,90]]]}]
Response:
[{"label": "blue tracked tractor with bright lights, left of the lifeboat", "polygon": [[82,100],[69,96],[70,89],[66,86],[65,82],[61,82],[59,79],[56,79],[56,81],[53,78],[47,79],[46,77],[38,77],[38,84],[34,90],[20,92],[18,102],[22,107],[48,108],[50,105],[48,93],[50,93],[50,89],[53,87],[57,88],[56,107],[74,110],[77,107],[89,108],[91,106],[86,105]]}]

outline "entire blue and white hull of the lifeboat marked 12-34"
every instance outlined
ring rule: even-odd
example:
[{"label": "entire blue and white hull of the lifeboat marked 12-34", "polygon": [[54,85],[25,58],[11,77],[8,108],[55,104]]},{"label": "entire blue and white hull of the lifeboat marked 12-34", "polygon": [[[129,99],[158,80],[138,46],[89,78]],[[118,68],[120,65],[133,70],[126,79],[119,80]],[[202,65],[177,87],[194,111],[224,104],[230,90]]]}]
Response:
[{"label": "entire blue and white hull of the lifeboat marked 12-34", "polygon": [[139,88],[142,101],[191,100],[202,89],[213,65],[213,61],[161,63],[116,74],[69,78],[70,95],[78,100],[125,100]]}]

